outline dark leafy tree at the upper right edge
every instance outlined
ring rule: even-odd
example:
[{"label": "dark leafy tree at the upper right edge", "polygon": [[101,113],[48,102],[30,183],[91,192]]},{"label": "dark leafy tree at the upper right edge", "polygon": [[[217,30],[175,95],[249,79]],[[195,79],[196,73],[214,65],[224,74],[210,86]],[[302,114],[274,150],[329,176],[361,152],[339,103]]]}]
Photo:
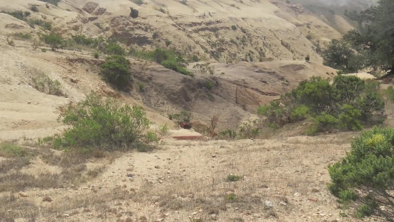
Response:
[{"label": "dark leafy tree at the upper right edge", "polygon": [[392,0],[379,0],[361,12],[359,29],[350,30],[342,40],[332,40],[323,51],[324,64],[346,72],[372,66],[394,73],[393,10]]}]

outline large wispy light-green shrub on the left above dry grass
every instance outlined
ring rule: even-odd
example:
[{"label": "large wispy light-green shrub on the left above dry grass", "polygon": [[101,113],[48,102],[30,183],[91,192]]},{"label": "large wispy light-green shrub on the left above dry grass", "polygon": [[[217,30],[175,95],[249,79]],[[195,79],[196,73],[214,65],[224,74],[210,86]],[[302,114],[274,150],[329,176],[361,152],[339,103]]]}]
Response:
[{"label": "large wispy light-green shrub on the left above dry grass", "polygon": [[133,149],[157,139],[149,132],[151,122],[142,107],[123,105],[113,98],[102,100],[94,93],[76,106],[69,106],[60,119],[70,126],[61,137],[63,147]]}]

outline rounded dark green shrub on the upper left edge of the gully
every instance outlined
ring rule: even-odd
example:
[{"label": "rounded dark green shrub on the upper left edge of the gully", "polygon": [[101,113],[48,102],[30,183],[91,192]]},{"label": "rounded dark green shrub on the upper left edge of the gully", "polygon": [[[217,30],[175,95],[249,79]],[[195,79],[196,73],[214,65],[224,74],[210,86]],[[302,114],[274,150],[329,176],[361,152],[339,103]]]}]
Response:
[{"label": "rounded dark green shrub on the upper left edge of the gully", "polygon": [[133,77],[129,71],[130,61],[121,55],[108,56],[105,60],[100,70],[103,79],[116,87],[126,87]]}]

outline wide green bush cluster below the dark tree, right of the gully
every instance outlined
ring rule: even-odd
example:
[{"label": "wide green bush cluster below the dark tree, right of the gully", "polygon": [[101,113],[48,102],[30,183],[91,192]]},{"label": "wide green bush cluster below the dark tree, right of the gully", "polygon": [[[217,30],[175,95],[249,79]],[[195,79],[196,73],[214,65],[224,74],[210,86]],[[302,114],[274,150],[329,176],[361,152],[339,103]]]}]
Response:
[{"label": "wide green bush cluster below the dark tree, right of the gully", "polygon": [[281,100],[258,108],[269,126],[281,127],[310,118],[307,134],[332,128],[361,130],[374,112],[384,109],[380,84],[357,76],[337,75],[329,79],[312,77],[282,95]]}]

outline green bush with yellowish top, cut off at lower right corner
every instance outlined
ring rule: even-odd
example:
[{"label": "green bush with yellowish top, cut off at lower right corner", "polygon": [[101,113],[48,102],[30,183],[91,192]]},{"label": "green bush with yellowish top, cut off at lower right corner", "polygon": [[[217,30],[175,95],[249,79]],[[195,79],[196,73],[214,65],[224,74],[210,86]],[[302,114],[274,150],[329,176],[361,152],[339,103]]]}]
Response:
[{"label": "green bush with yellowish top, cut off at lower right corner", "polygon": [[351,205],[358,217],[394,221],[394,129],[363,132],[351,151],[328,171],[332,194]]}]

